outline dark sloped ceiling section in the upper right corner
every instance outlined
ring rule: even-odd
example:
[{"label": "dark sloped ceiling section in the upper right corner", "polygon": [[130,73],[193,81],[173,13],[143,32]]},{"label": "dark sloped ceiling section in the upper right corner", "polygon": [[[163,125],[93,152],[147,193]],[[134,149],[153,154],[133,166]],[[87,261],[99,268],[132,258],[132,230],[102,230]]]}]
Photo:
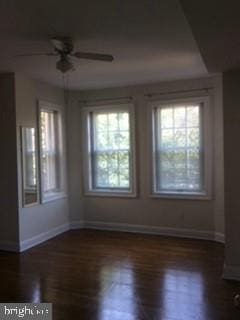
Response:
[{"label": "dark sloped ceiling section in the upper right corner", "polygon": [[209,72],[240,67],[240,2],[181,0]]}]

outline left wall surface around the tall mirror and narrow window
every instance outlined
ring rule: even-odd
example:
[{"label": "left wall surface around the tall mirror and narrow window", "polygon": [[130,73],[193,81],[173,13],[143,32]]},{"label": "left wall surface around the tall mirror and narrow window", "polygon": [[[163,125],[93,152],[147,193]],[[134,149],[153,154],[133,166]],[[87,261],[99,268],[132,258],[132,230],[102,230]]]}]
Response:
[{"label": "left wall surface around the tall mirror and narrow window", "polygon": [[[63,91],[38,81],[30,80],[22,74],[15,74],[17,151],[18,151],[18,193],[19,227],[21,247],[26,248],[64,231],[69,223],[68,198],[23,208],[20,126],[37,128],[37,100],[45,100],[62,106],[65,129]],[[64,168],[63,168],[64,170]]]}]

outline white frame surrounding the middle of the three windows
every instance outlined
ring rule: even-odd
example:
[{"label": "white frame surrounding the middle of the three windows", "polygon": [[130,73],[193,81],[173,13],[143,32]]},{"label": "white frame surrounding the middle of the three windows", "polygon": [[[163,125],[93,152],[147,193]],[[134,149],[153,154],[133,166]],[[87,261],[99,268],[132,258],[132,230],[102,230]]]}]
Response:
[{"label": "white frame surrounding the middle of the three windows", "polygon": [[[90,115],[94,111],[114,112],[127,111],[129,113],[130,124],[130,188],[129,190],[102,188],[94,189],[92,186],[92,159],[91,159],[91,139],[90,136]],[[116,103],[104,105],[91,105],[82,108],[82,151],[83,151],[83,180],[84,195],[100,197],[136,197],[136,157],[135,157],[135,113],[134,104]]]}]

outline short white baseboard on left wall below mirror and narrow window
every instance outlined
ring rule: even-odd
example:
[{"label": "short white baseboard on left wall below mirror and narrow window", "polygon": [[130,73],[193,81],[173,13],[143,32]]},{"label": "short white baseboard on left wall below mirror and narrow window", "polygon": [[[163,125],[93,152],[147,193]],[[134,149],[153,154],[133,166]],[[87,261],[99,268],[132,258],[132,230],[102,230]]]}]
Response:
[{"label": "short white baseboard on left wall below mirror and narrow window", "polygon": [[20,252],[23,252],[29,248],[32,248],[44,241],[47,241],[63,232],[66,232],[69,230],[69,224],[66,223],[66,224],[63,224],[59,227],[56,227],[56,228],[53,228],[49,231],[46,231],[46,232],[42,232],[40,234],[38,234],[37,236],[34,236],[32,238],[29,238],[29,239],[26,239],[26,240],[23,240],[20,242]]}]

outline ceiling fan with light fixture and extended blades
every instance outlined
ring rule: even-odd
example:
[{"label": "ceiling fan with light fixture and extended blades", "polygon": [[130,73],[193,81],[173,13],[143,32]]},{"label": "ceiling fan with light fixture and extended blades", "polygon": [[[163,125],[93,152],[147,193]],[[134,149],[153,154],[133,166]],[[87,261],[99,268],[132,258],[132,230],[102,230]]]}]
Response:
[{"label": "ceiling fan with light fixture and extended blades", "polygon": [[33,54],[20,54],[18,56],[55,56],[59,57],[59,60],[56,63],[57,70],[65,73],[70,70],[74,70],[74,65],[71,61],[71,57],[75,57],[78,59],[88,59],[88,60],[98,60],[98,61],[113,61],[113,56],[110,54],[102,54],[102,53],[92,53],[92,52],[82,52],[75,51],[73,41],[69,37],[61,37],[61,38],[52,38],[50,41],[53,44],[54,52],[47,53],[33,53]]}]

